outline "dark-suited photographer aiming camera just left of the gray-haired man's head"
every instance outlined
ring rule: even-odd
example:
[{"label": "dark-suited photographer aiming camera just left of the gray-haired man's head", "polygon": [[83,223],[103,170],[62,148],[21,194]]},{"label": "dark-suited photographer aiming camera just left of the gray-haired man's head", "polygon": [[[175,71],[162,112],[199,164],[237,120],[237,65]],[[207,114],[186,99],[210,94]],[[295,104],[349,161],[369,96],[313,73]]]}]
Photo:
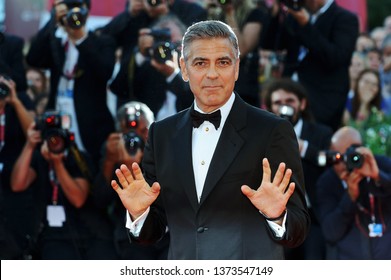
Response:
[{"label": "dark-suited photographer aiming camera just left of the gray-haired man's head", "polygon": [[156,5],[144,2],[145,11],[153,22],[139,30],[137,48],[123,58],[110,89],[124,97],[120,104],[140,101],[152,110],[156,120],[161,120],[193,102],[178,64],[177,46],[185,25],[170,12],[167,1]]}]

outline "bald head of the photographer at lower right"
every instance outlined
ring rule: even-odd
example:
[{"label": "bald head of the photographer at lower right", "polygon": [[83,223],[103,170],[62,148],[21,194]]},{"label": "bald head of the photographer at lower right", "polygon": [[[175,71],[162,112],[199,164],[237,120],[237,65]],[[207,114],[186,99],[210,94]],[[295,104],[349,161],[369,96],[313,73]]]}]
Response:
[{"label": "bald head of the photographer at lower right", "polygon": [[351,126],[344,126],[334,133],[330,148],[333,151],[345,153],[351,145],[362,145],[360,132]]}]

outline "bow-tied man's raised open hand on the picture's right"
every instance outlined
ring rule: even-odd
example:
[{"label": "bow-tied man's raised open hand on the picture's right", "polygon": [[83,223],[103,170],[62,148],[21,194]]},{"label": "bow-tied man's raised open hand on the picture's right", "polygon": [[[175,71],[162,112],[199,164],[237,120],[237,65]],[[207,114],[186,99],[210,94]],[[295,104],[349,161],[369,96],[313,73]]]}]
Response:
[{"label": "bow-tied man's raised open hand on the picture's right", "polygon": [[253,190],[243,185],[242,193],[267,217],[279,217],[285,211],[286,204],[295,190],[295,183],[289,183],[292,170],[287,169],[285,163],[280,163],[272,180],[269,161],[266,158],[263,159],[262,165],[263,178],[259,188]]}]

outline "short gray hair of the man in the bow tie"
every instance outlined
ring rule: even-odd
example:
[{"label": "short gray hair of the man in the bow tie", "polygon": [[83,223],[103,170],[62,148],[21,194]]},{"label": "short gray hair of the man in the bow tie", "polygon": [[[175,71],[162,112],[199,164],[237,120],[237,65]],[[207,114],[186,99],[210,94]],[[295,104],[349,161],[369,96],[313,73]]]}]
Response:
[{"label": "short gray hair of the man in the bow tie", "polygon": [[235,32],[228,24],[219,20],[199,21],[189,26],[182,39],[182,57],[187,60],[189,46],[193,41],[214,38],[228,39],[232,44],[235,57],[239,58],[239,43]]}]

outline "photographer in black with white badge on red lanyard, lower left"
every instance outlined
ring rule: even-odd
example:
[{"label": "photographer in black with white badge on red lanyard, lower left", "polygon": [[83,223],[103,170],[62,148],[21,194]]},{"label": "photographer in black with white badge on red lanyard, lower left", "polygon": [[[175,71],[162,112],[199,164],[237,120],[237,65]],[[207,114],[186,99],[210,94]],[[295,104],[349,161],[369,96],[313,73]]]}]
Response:
[{"label": "photographer in black with white badge on red lanyard, lower left", "polygon": [[42,259],[115,259],[90,198],[94,167],[88,154],[78,150],[69,127],[69,116],[56,111],[30,125],[12,171],[12,190],[40,193]]}]

